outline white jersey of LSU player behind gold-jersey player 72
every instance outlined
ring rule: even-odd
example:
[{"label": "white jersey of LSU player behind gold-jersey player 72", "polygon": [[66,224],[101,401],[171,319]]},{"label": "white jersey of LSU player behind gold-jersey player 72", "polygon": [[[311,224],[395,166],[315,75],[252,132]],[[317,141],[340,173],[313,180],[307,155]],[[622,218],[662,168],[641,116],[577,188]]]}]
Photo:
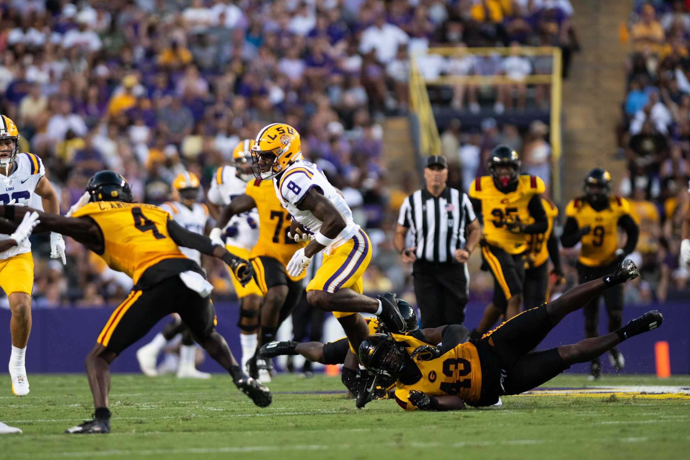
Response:
[{"label": "white jersey of LSU player behind gold-jersey player 72", "polygon": [[[237,177],[236,171],[235,166],[221,166],[216,170],[208,190],[208,201],[215,206],[227,206],[230,201],[233,201],[233,198],[244,194],[247,183]],[[226,244],[251,250],[259,239],[259,212],[257,208],[233,216],[223,231],[225,232],[228,227],[237,228],[237,232],[235,237],[226,238]]]}]

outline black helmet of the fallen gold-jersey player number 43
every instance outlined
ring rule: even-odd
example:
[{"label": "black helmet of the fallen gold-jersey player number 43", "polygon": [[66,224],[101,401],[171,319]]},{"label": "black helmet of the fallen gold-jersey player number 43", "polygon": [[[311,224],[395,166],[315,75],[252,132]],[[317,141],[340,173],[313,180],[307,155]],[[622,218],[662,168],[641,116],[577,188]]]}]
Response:
[{"label": "black helmet of the fallen gold-jersey player number 43", "polygon": [[366,370],[392,379],[400,375],[409,359],[405,348],[388,334],[370,335],[359,344],[358,354]]}]

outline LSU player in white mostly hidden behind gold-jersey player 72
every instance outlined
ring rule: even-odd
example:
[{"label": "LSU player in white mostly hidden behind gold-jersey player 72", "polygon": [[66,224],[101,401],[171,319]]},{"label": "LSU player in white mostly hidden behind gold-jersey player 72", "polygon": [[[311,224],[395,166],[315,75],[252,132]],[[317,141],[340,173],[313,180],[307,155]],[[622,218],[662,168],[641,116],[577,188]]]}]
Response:
[{"label": "LSU player in white mostly hidden behind gold-jersey player 72", "polygon": [[[224,207],[230,204],[235,197],[244,195],[249,181],[254,181],[251,170],[252,154],[250,152],[252,139],[244,139],[233,150],[233,166],[221,166],[213,175],[210,189],[206,199],[208,209],[214,219],[220,217]],[[232,217],[223,228],[213,228],[210,239],[218,244],[225,244],[233,254],[239,254],[245,260],[249,260],[249,252],[259,239],[259,213],[256,208],[241,212]],[[239,299],[239,343],[242,345],[242,369],[257,350],[257,333],[259,330],[259,311],[262,306],[264,294],[257,282],[253,279],[242,286],[239,280],[230,273],[237,299]],[[267,372],[260,376],[263,382],[270,381]]]}]

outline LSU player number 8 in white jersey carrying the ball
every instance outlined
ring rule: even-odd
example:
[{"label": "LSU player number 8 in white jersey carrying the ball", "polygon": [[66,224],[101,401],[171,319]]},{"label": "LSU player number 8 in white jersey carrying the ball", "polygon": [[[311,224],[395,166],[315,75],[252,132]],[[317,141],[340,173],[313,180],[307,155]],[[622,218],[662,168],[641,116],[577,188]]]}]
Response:
[{"label": "LSU player number 8 in white jersey carrying the ball", "polygon": [[[353,221],[352,211],[339,190],[328,182],[320,168],[304,161],[297,130],[285,123],[265,126],[257,134],[252,154],[255,174],[262,180],[273,179],[282,206],[304,231],[314,235],[290,259],[288,274],[296,277],[317,252],[324,251],[322,266],[306,287],[307,301],[333,312],[353,350],[369,335],[359,312],[375,314],[391,330],[404,332],[405,322],[395,294],[387,293],[378,299],[362,294],[362,276],[371,260],[371,241]],[[350,388],[357,366],[346,363],[346,368],[343,383]]]}]

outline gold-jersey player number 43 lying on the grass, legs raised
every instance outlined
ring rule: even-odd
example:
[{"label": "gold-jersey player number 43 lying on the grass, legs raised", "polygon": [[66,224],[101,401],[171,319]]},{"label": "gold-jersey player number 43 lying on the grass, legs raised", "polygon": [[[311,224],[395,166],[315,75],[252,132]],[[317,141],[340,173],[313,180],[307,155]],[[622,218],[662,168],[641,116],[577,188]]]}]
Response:
[{"label": "gold-jersey player number 43 lying on the grass, legs raised", "polygon": [[[362,366],[395,381],[395,401],[404,410],[460,410],[490,406],[502,395],[520,394],[553,379],[572,364],[607,352],[621,341],[658,328],[652,310],[602,337],[533,351],[565,316],[604,290],[638,277],[624,261],[604,278],[568,290],[551,303],[525,310],[481,339],[461,343],[457,324],[411,334],[374,334],[359,346]],[[437,345],[439,344],[439,345]]]}]

